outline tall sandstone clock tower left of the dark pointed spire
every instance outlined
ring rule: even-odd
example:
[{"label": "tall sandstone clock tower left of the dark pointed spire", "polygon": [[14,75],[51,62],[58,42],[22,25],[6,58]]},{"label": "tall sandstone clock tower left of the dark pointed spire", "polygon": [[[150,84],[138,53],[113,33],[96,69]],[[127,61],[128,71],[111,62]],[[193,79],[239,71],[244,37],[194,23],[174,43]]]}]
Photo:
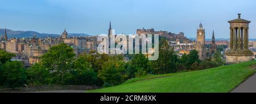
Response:
[{"label": "tall sandstone clock tower left of the dark pointed spire", "polygon": [[196,50],[198,51],[199,54],[199,59],[200,60],[205,60],[206,59],[206,51],[205,51],[205,30],[203,28],[203,24],[200,23],[199,28],[197,28],[197,33],[196,33]]}]

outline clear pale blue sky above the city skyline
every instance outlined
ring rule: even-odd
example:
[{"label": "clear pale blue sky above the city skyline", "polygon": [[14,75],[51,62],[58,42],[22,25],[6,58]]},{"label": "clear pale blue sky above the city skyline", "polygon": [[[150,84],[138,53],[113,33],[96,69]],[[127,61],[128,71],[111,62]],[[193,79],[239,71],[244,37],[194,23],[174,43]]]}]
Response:
[{"label": "clear pale blue sky above the city skyline", "polygon": [[0,28],[60,34],[135,34],[154,28],[196,37],[200,22],[206,38],[229,38],[228,20],[250,20],[249,38],[256,38],[255,0],[0,0]]}]

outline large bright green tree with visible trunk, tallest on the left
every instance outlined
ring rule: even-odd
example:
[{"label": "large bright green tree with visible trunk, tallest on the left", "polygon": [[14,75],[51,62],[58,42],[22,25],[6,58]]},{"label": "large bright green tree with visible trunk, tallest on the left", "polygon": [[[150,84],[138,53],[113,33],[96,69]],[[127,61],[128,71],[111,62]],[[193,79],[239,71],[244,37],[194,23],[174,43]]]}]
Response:
[{"label": "large bright green tree with visible trunk, tallest on the left", "polygon": [[49,70],[56,71],[61,75],[61,82],[64,82],[64,74],[69,72],[72,68],[72,63],[75,58],[73,49],[61,43],[53,46],[41,58],[41,62]]}]

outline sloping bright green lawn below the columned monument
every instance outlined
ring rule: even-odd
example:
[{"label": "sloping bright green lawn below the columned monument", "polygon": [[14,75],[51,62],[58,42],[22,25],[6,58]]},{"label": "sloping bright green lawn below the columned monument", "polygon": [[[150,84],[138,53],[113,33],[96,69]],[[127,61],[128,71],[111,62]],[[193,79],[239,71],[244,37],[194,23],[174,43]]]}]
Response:
[{"label": "sloping bright green lawn below the columned monument", "polygon": [[256,61],[220,66],[195,72],[149,75],[121,85],[88,93],[229,92],[254,73]]}]

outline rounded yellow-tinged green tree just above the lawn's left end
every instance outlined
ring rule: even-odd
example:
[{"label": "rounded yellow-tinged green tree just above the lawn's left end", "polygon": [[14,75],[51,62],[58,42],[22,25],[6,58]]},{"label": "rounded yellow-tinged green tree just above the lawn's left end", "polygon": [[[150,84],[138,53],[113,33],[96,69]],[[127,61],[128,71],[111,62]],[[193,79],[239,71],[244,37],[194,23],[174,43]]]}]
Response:
[{"label": "rounded yellow-tinged green tree just above the lawn's left end", "polygon": [[126,80],[125,63],[123,61],[106,61],[99,70],[98,77],[111,86],[117,85]]}]

